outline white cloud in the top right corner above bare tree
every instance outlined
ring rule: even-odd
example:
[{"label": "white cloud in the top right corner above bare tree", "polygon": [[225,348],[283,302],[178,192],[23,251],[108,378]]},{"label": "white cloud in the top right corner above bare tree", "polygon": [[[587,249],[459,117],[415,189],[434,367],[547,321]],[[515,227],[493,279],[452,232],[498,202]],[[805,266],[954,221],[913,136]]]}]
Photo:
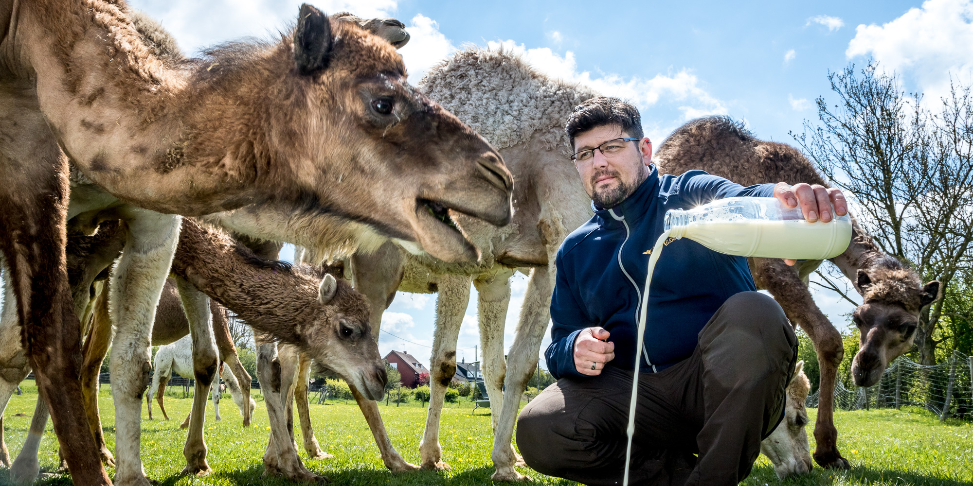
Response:
[{"label": "white cloud in the top right corner above bare tree", "polygon": [[882,25],[858,25],[845,54],[871,56],[914,81],[927,100],[938,100],[951,74],[973,73],[973,2],[928,0]]}]

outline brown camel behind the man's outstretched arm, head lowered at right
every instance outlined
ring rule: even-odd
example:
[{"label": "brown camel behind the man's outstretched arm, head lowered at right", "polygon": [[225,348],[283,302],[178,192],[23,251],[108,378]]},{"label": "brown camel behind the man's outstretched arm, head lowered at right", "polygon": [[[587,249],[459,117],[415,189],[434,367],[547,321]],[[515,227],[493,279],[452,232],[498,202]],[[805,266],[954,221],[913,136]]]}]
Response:
[{"label": "brown camel behind the man's outstretched arm, head lowered at right", "polygon": [[[784,144],[756,139],[740,123],[726,117],[689,121],[676,129],[659,147],[654,158],[659,173],[681,174],[702,169],[744,186],[784,181],[827,187],[827,182],[801,153]],[[912,347],[919,313],[939,296],[939,282],[924,286],[919,276],[899,260],[889,257],[852,219],[851,244],[831,262],[855,285],[863,303],[854,311],[861,330],[862,346],[852,364],[855,381],[870,386],[885,366]],[[838,330],[814,303],[808,291],[808,275],[820,260],[787,266],[782,260],[750,259],[757,286],[767,289],[792,323],[811,337],[821,365],[821,401],[814,438],[814,461],[823,468],[848,467],[838,450],[834,426],[834,389],[838,365],[845,354]]]}]

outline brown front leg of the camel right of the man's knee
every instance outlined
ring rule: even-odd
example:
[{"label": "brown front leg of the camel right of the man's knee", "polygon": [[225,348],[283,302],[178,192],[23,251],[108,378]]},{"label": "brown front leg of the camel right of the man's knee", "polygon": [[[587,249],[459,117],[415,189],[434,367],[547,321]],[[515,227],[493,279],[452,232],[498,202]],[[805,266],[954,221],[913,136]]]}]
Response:
[{"label": "brown front leg of the camel right of the man's knee", "polygon": [[838,450],[838,430],[834,422],[835,380],[845,356],[842,335],[814,303],[811,292],[794,269],[782,260],[750,259],[750,271],[758,287],[767,289],[791,323],[801,326],[817,352],[820,365],[820,393],[817,422],[814,424],[814,461],[822,468],[847,469],[847,459]]}]

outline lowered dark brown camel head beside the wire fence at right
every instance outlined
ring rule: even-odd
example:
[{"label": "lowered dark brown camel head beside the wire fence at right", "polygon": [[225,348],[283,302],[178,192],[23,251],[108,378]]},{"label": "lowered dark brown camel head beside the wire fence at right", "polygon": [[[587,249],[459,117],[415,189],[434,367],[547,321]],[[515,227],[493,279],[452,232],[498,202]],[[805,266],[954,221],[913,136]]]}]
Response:
[{"label": "lowered dark brown camel head beside the wire fence at right", "polygon": [[851,376],[855,385],[870,387],[879,382],[892,360],[912,348],[919,313],[939,298],[940,284],[933,280],[922,285],[916,272],[885,257],[867,270],[858,270],[855,288],[864,302],[852,314],[861,340]]}]

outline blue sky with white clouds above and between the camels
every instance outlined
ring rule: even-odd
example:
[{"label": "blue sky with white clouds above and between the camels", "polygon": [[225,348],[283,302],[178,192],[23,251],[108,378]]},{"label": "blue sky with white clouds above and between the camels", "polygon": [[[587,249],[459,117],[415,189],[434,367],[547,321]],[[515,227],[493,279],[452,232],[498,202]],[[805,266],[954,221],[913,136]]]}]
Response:
[{"label": "blue sky with white clouds above and between the camels", "polygon": [[[134,0],[162,21],[183,49],[244,36],[268,37],[293,22],[294,0]],[[936,99],[949,75],[973,66],[970,1],[907,2],[573,2],[334,0],[328,13],[397,17],[412,41],[401,50],[415,84],[429,66],[464,44],[506,45],[543,71],[635,102],[656,143],[691,118],[726,114],[758,136],[791,142],[788,131],[815,121],[813,100],[828,93],[827,73],[870,56],[903,75],[910,89]],[[506,345],[526,280],[514,282]],[[844,330],[851,306],[815,293]],[[476,294],[459,349],[479,342]],[[400,294],[386,312],[382,353],[405,349],[428,364],[435,295]],[[412,341],[406,342],[406,341]],[[545,340],[546,346],[547,340]],[[473,350],[459,352],[467,361]]]}]

